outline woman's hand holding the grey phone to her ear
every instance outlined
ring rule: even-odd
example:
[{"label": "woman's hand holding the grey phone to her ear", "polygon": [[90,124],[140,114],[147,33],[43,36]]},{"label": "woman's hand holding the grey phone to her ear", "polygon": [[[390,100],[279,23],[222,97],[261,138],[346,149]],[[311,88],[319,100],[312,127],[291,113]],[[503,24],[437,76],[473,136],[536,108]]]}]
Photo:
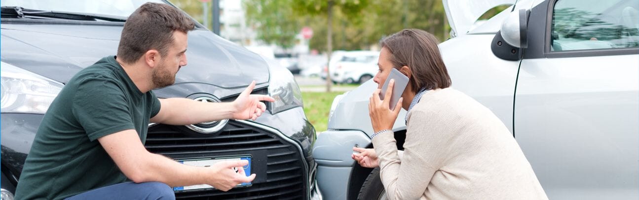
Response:
[{"label": "woman's hand holding the grey phone to her ear", "polygon": [[392,129],[393,124],[395,124],[395,120],[397,119],[397,115],[399,115],[402,101],[404,100],[403,97],[399,98],[394,110],[389,109],[390,98],[392,96],[394,85],[395,80],[390,80],[389,87],[387,87],[385,91],[383,101],[380,99],[381,89],[376,89],[375,92],[373,92],[373,96],[370,98],[368,103],[368,114],[371,116],[371,124],[373,124],[373,131],[375,132]]}]

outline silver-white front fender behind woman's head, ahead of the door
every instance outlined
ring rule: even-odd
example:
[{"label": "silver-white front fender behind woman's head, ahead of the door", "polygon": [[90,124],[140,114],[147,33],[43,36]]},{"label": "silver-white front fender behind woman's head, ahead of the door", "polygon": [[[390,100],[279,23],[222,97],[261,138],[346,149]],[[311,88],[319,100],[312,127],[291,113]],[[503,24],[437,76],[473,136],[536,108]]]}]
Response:
[{"label": "silver-white front fender behind woman's head, ahead of the door", "polygon": [[468,34],[449,39],[440,44],[440,51],[452,87],[488,107],[512,132],[512,97],[520,61],[505,61],[492,55],[490,43],[494,36]]}]

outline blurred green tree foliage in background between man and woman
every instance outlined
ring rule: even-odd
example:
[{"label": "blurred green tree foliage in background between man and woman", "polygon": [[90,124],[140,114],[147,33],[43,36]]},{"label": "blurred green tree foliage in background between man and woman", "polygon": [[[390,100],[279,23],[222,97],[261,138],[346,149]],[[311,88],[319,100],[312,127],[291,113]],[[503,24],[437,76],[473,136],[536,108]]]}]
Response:
[{"label": "blurred green tree foliage in background between man and woman", "polygon": [[[275,2],[279,5],[272,8],[277,11],[249,9],[254,5],[266,8],[266,5]],[[310,48],[321,52],[327,50],[328,1],[246,0],[245,4],[249,24],[258,22],[275,25],[271,29],[277,31],[268,31],[266,34],[278,37],[273,33],[290,31],[281,35],[284,38],[289,34],[297,34],[301,27],[309,26],[314,32],[309,41]],[[332,46],[340,50],[368,49],[378,44],[383,37],[405,28],[429,31],[442,41],[448,38],[450,32],[440,0],[335,0],[332,13],[332,29],[335,30],[332,31]],[[272,15],[278,16],[275,18]]]}]

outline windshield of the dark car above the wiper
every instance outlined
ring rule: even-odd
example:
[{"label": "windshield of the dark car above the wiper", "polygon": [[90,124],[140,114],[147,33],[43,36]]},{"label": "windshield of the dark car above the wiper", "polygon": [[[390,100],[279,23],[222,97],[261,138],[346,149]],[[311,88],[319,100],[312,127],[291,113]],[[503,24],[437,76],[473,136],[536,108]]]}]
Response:
[{"label": "windshield of the dark car above the wiper", "polygon": [[146,2],[164,3],[161,0],[3,0],[1,6],[19,6],[33,10],[95,13],[128,17]]}]

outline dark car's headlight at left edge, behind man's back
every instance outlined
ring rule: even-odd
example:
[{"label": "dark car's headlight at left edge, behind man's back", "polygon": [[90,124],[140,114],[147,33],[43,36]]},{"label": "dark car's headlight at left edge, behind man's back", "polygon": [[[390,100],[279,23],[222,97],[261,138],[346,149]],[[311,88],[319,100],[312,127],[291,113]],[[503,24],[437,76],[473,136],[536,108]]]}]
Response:
[{"label": "dark car's headlight at left edge, behind man's back", "polygon": [[64,85],[0,62],[2,113],[45,113]]}]

